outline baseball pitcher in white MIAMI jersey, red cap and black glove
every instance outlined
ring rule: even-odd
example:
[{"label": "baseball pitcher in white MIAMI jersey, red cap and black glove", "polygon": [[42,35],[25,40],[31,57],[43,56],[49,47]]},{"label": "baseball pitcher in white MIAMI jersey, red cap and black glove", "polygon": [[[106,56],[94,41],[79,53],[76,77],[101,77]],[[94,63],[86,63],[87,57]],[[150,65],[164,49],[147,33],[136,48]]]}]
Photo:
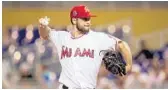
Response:
[{"label": "baseball pitcher in white MIAMI jersey, red cap and black glove", "polygon": [[102,61],[114,75],[124,76],[131,70],[128,44],[103,32],[92,31],[91,17],[96,16],[86,6],[74,6],[70,12],[72,30],[67,31],[51,29],[47,17],[39,19],[41,38],[52,41],[58,50],[62,66],[60,89],[96,88]]}]

